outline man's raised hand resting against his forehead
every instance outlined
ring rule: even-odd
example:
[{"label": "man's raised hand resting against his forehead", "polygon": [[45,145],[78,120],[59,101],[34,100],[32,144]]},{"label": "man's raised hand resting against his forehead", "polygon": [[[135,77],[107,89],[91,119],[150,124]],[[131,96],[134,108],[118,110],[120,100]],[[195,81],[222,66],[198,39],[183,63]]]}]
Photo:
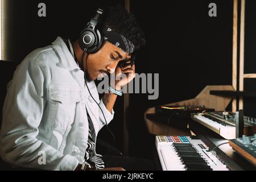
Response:
[{"label": "man's raised hand resting against his forehead", "polygon": [[[115,68],[115,86],[116,90],[121,90],[126,84],[129,84],[131,80],[135,77],[135,65],[131,67],[130,60],[125,63],[118,64]],[[124,74],[124,75],[123,75]]]}]

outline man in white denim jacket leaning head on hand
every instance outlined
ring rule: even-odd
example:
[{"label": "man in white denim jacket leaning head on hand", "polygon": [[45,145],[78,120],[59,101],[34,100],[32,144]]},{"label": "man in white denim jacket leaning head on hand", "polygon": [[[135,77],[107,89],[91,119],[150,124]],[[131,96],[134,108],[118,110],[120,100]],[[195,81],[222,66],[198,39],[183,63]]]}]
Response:
[{"label": "man in white denim jacket leaning head on hand", "polygon": [[[150,169],[143,159],[102,157],[95,151],[98,131],[113,119],[117,93],[135,76],[131,53],[144,44],[134,16],[122,6],[110,7],[104,16],[105,40],[97,52],[87,53],[78,39],[58,37],[16,68],[3,107],[0,154],[5,162],[47,170]],[[121,47],[115,36],[129,44]],[[94,80],[108,72],[126,77],[99,100]],[[145,168],[138,168],[142,164]]]}]

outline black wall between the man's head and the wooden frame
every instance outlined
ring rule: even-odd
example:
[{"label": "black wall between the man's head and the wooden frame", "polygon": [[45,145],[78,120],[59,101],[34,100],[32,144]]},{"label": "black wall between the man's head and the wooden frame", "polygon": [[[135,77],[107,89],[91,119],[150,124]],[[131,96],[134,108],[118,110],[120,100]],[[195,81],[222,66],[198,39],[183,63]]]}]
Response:
[{"label": "black wall between the man's head and the wooden frame", "polygon": [[[209,17],[208,5],[217,5]],[[233,1],[131,1],[147,45],[138,52],[138,73],[159,73],[159,98],[131,94],[130,154],[145,156],[148,107],[194,98],[207,85],[232,84]]]}]

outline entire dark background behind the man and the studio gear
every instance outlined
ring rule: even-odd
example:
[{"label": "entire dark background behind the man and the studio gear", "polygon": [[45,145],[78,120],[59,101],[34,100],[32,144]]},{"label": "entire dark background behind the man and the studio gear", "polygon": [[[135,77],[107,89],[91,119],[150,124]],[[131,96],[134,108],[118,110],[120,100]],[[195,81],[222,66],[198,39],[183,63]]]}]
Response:
[{"label": "entire dark background behind the man and the studio gear", "polygon": [[[38,16],[38,4],[46,3],[47,17]],[[217,4],[217,17],[209,17],[209,3]],[[15,64],[38,47],[51,44],[57,36],[78,33],[94,14],[98,4],[124,1],[8,0],[7,52],[0,61],[1,102],[5,84]],[[246,0],[245,72],[254,73],[256,53],[255,1]],[[194,98],[207,85],[232,84],[233,1],[135,1],[135,14],[145,32],[147,44],[137,52],[137,73],[159,73],[159,98],[130,94],[129,154],[150,158],[152,137],[147,133],[143,114],[148,107]],[[256,90],[254,80],[245,81],[245,90]],[[253,98],[245,99],[245,114],[256,117]],[[123,142],[123,98],[114,107],[110,128],[120,150]],[[105,129],[104,129],[105,130]],[[111,138],[106,131],[99,137]]]}]

